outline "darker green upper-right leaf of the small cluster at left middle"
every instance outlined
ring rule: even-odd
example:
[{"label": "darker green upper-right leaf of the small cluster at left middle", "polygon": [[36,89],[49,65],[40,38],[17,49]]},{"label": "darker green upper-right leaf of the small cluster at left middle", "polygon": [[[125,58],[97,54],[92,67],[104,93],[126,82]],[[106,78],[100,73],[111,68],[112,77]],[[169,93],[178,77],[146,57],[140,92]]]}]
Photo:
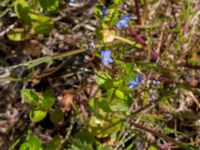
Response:
[{"label": "darker green upper-right leaf of the small cluster at left middle", "polygon": [[50,109],[55,103],[55,96],[51,90],[47,90],[43,94],[42,105],[40,108],[42,109]]}]

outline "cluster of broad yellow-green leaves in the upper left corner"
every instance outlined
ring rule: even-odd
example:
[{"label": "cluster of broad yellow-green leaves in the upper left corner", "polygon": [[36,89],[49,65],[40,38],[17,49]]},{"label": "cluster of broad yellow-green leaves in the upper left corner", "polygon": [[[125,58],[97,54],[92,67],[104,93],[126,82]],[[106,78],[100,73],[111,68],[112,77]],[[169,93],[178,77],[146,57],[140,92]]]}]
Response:
[{"label": "cluster of broad yellow-green leaves in the upper left corner", "polygon": [[34,34],[48,34],[54,21],[48,15],[58,11],[60,0],[16,0],[14,10],[23,25],[8,32],[13,41],[23,41]]}]

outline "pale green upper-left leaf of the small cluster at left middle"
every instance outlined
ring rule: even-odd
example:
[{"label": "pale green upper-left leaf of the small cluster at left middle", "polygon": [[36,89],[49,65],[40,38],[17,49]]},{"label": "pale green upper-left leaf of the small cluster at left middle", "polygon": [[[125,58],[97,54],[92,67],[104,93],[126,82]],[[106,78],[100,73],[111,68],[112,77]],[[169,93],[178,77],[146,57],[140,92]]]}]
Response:
[{"label": "pale green upper-left leaf of the small cluster at left middle", "polygon": [[37,95],[37,93],[34,90],[22,89],[21,90],[21,97],[22,97],[22,100],[24,100],[25,102],[27,102],[27,103],[29,103],[33,106],[38,105],[39,96]]}]

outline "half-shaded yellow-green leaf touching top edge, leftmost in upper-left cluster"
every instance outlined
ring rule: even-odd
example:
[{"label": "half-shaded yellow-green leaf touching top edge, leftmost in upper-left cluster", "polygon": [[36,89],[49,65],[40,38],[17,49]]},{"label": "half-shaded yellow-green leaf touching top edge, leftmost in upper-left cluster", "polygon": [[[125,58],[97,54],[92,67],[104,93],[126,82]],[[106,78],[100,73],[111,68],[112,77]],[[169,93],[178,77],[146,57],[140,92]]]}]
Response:
[{"label": "half-shaded yellow-green leaf touching top edge, leftmost in upper-left cluster", "polygon": [[31,12],[29,4],[25,0],[16,0],[14,3],[14,10],[16,15],[24,21],[25,24],[31,25]]}]

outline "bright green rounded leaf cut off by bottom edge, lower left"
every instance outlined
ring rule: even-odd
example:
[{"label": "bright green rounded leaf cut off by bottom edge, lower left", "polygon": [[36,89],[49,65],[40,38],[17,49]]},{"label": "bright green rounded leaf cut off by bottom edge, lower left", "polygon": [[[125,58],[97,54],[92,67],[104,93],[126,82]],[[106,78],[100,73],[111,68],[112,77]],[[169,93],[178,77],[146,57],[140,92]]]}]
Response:
[{"label": "bright green rounded leaf cut off by bottom edge, lower left", "polygon": [[20,146],[20,150],[42,150],[40,139],[37,136],[31,136],[27,142]]}]

